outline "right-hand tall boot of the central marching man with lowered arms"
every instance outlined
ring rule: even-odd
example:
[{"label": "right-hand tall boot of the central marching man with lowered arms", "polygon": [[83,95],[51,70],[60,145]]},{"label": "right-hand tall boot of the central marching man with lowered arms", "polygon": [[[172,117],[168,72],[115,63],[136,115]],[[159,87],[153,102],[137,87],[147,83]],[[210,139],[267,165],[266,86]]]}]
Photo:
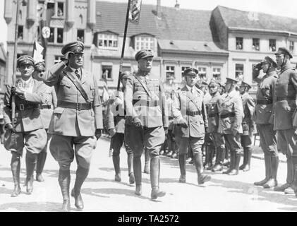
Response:
[{"label": "right-hand tall boot of the central marching man with lowered arms", "polygon": [[152,192],[150,194],[152,199],[163,197],[166,195],[165,191],[159,189],[159,177],[160,177],[160,159],[159,156],[154,156],[150,160],[150,184],[152,186]]}]

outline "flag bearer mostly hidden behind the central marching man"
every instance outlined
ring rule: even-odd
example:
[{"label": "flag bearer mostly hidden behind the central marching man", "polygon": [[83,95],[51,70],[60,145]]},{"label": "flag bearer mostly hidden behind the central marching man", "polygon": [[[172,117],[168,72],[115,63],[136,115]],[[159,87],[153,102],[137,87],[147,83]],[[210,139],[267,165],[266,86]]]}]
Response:
[{"label": "flag bearer mostly hidden behind the central marching man", "polygon": [[123,90],[125,90],[128,76],[131,76],[129,71],[124,71],[121,74],[122,90],[119,93],[116,91],[114,98],[111,98],[107,105],[107,129],[111,136],[111,150],[113,150],[112,162],[114,162],[114,171],[116,172],[114,180],[121,182],[120,150],[124,143],[127,153],[129,183],[134,184],[135,179],[132,172],[133,152],[126,142],[124,142],[126,110],[123,101]]}]

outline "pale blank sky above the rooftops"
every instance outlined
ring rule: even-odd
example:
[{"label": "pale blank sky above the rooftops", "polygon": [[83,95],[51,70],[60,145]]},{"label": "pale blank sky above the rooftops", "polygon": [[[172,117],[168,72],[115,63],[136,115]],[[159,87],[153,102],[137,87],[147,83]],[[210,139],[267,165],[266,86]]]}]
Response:
[{"label": "pale blank sky above the rooftops", "polygon": [[[128,0],[105,1],[128,3]],[[157,0],[143,0],[142,3],[155,5],[157,4]],[[162,6],[173,7],[175,4],[176,0],[161,0]],[[277,16],[297,18],[296,0],[178,0],[178,4],[180,4],[180,8],[212,10],[216,6],[226,6],[243,11],[262,12]],[[4,42],[4,46],[6,47],[7,26],[4,20],[4,0],[0,0],[0,30],[0,42]]]}]

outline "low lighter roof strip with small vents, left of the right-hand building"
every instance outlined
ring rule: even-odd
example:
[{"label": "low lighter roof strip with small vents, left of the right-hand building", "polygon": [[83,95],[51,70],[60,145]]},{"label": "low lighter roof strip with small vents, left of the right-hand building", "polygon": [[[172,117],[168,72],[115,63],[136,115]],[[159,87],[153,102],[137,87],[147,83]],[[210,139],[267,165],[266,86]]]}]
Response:
[{"label": "low lighter roof strip with small vents, left of the right-hand building", "polygon": [[162,50],[178,50],[179,52],[207,52],[222,53],[229,52],[217,47],[214,42],[188,41],[188,40],[159,40],[159,47]]}]

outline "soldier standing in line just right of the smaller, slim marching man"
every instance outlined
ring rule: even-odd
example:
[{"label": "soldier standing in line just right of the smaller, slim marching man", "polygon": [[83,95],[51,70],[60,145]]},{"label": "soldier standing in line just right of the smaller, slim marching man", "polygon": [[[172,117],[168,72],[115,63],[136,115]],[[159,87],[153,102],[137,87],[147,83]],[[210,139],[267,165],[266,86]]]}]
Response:
[{"label": "soldier standing in line just right of the smaller, slim marching man", "polygon": [[212,99],[207,102],[207,119],[208,128],[207,132],[211,134],[213,138],[214,148],[216,150],[216,161],[212,172],[223,170],[223,161],[225,158],[225,143],[222,133],[218,133],[217,129],[219,126],[219,109],[222,105],[222,97],[219,94],[219,83],[217,81],[210,82],[210,95]]}]

